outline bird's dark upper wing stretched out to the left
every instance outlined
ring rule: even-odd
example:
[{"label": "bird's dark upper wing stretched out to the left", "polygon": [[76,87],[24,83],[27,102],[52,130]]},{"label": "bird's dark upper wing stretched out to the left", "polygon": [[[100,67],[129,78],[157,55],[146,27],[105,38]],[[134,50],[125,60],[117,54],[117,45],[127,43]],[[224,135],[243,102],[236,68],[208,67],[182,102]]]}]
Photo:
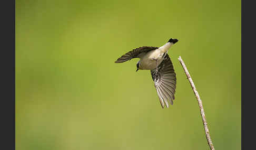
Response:
[{"label": "bird's dark upper wing stretched out to the left", "polygon": [[115,63],[125,62],[127,60],[131,60],[132,58],[139,58],[143,53],[149,52],[151,50],[158,49],[158,47],[152,46],[143,46],[136,49],[133,49],[129,52],[126,52],[125,55],[121,56],[119,59],[115,61]]}]

